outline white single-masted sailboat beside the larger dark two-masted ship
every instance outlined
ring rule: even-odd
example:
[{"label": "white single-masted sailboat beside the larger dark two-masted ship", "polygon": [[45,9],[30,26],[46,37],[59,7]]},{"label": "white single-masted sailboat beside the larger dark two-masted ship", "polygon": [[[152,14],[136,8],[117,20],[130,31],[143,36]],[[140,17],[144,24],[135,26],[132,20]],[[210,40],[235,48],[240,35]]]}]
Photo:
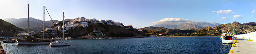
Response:
[{"label": "white single-masted sailboat beside the larger dark two-masted ship", "polygon": [[[63,27],[64,27],[64,12],[63,12]],[[64,31],[63,31],[63,38],[64,38]],[[64,39],[63,39],[63,41],[51,42],[49,44],[49,46],[70,46],[70,45],[71,45],[71,41],[65,42]]]}]

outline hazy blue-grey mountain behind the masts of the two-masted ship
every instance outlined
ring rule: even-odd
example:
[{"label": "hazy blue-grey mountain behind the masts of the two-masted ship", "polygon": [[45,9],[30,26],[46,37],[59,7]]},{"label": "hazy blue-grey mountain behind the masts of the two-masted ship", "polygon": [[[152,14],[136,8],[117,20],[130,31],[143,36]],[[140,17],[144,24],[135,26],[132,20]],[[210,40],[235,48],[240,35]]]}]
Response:
[{"label": "hazy blue-grey mountain behind the masts of the two-masted ship", "polygon": [[[14,18],[6,18],[3,19],[7,22],[12,23],[13,25],[16,24],[17,27],[24,29],[27,31],[27,18],[22,18],[22,19],[14,19]],[[29,22],[29,31],[41,31],[43,30],[43,21],[39,20],[39,19],[34,19],[34,18],[29,18],[30,22]],[[54,23],[58,22],[58,20],[54,20]],[[44,28],[49,28],[53,25],[52,21],[45,21],[44,23]]]}]

